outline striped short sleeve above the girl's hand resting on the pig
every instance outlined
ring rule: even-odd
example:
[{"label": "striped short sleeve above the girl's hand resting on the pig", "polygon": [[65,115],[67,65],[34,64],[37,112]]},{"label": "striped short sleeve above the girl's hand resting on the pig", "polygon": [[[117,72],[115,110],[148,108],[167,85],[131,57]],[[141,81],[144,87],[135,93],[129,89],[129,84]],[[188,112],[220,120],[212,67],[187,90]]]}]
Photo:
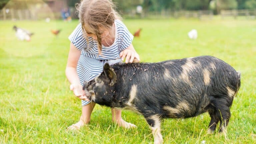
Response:
[{"label": "striped short sleeve above the girl's hand resting on the pig", "polygon": [[123,51],[132,44],[133,35],[121,21],[119,21],[118,23],[121,23],[120,25],[122,26],[119,30],[119,35],[121,38],[120,51]]}]

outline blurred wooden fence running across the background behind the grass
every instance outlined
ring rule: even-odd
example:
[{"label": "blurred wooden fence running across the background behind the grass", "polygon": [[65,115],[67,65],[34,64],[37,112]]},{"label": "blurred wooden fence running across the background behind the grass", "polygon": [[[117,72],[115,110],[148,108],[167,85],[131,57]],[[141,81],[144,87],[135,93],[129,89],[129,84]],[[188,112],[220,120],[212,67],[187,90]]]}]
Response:
[{"label": "blurred wooden fence running across the background behind the grass", "polygon": [[[75,18],[74,8],[70,8],[72,18]],[[222,10],[220,12],[222,19],[231,17],[245,17],[247,19],[256,18],[256,10]],[[61,19],[60,12],[52,12],[51,10],[37,10],[37,9],[6,9],[3,8],[0,11],[0,20],[40,20],[45,18]],[[198,18],[212,19],[213,12],[210,10],[199,10],[199,11],[161,11],[161,12],[143,12],[136,14],[136,11],[130,11],[124,13],[126,18]]]}]

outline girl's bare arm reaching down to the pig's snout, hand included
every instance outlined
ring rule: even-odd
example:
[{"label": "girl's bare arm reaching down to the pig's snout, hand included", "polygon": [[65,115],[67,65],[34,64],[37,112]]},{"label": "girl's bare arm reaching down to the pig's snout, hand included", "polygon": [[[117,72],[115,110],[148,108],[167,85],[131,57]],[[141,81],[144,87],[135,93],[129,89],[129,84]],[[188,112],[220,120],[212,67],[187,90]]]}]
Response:
[{"label": "girl's bare arm reaching down to the pig's snout, hand included", "polygon": [[88,100],[83,92],[83,86],[80,84],[79,77],[77,75],[76,67],[80,58],[81,51],[78,50],[72,43],[70,43],[70,50],[68,54],[68,62],[66,66],[66,77],[71,83],[70,90],[72,90],[76,97],[82,100]]}]

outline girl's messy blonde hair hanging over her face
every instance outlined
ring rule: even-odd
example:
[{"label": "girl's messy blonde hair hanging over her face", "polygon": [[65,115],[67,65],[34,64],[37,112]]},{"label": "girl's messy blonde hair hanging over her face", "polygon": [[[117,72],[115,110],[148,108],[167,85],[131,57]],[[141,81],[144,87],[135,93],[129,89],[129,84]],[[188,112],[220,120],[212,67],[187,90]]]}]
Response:
[{"label": "girl's messy blonde hair hanging over her face", "polygon": [[101,54],[101,31],[100,27],[110,30],[115,22],[115,19],[120,19],[120,15],[115,10],[115,5],[111,0],[82,0],[77,5],[79,12],[79,20],[82,25],[83,35],[87,40],[86,31],[92,32],[97,36],[98,52]]}]

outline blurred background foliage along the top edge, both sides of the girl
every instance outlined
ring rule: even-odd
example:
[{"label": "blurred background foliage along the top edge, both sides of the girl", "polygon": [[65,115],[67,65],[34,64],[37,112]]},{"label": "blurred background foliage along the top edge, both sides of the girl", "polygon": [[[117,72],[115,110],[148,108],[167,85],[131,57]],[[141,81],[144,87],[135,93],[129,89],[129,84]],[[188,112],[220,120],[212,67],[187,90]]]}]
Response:
[{"label": "blurred background foliage along the top edge, both sides of the girl", "polygon": [[[1,0],[0,9],[9,2],[10,7],[15,9],[27,8],[27,4],[33,4],[42,0]],[[46,0],[43,0],[46,1]],[[142,5],[144,11],[163,11],[163,10],[208,10],[211,0],[113,0],[117,5],[118,10],[122,13],[135,10],[137,5]],[[212,8],[222,9],[256,9],[256,0],[213,0],[217,3],[217,7]],[[74,7],[75,3],[80,0],[68,0],[68,5]]]}]

